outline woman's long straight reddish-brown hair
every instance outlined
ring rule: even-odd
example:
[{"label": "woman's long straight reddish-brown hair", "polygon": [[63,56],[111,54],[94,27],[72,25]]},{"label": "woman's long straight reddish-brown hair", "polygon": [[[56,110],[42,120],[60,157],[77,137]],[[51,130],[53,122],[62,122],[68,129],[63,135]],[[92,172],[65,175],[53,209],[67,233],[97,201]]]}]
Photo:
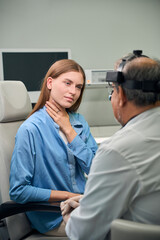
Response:
[{"label": "woman's long straight reddish-brown hair", "polygon": [[84,79],[84,84],[83,87],[81,89],[81,94],[78,98],[78,100],[75,102],[75,104],[73,106],[71,106],[68,111],[69,112],[76,112],[77,109],[79,108],[81,101],[82,101],[82,96],[83,96],[83,92],[84,92],[84,88],[85,88],[85,82],[86,82],[86,77],[85,77],[85,73],[83,68],[76,63],[74,60],[71,59],[63,59],[63,60],[59,60],[57,62],[55,62],[48,70],[48,72],[46,73],[46,76],[44,78],[44,81],[42,83],[42,87],[41,87],[41,93],[39,96],[39,99],[36,103],[36,105],[34,106],[32,112],[29,114],[29,116],[31,116],[34,112],[38,111],[40,108],[42,108],[46,101],[49,100],[50,97],[50,90],[47,88],[47,79],[48,77],[52,77],[54,79],[58,78],[61,74],[66,73],[66,72],[79,72],[82,74],[83,79]]}]

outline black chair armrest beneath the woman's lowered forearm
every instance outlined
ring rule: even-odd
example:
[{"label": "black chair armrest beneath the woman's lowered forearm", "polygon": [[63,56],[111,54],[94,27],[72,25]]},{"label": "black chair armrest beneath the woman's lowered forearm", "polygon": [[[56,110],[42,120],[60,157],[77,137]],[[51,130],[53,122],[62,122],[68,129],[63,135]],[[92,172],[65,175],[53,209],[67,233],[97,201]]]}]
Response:
[{"label": "black chair armrest beneath the woman's lowered forearm", "polygon": [[0,219],[28,211],[60,212],[60,202],[28,202],[21,204],[7,201],[0,205]]}]

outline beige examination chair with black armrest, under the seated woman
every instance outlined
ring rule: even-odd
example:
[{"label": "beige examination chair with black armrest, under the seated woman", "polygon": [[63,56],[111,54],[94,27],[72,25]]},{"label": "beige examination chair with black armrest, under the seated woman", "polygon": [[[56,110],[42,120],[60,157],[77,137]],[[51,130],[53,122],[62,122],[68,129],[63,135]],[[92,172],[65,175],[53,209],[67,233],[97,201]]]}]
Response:
[{"label": "beige examination chair with black armrest, under the seated woman", "polygon": [[31,112],[31,102],[20,81],[0,81],[0,240],[65,240],[44,236],[31,228],[26,211],[60,211],[59,203],[17,204],[9,197],[10,161],[19,126]]}]

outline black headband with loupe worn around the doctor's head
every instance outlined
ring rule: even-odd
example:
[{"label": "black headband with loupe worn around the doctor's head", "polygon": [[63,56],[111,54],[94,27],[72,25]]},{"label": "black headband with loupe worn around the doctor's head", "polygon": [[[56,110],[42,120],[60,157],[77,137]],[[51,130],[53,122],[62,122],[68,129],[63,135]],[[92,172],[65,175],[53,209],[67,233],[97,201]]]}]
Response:
[{"label": "black headband with loupe worn around the doctor's head", "polygon": [[123,68],[128,61],[132,61],[134,58],[137,57],[146,57],[142,55],[141,50],[134,50],[133,54],[124,57],[117,69],[117,71],[107,71],[106,74],[106,82],[117,83],[127,89],[138,89],[142,90],[143,92],[154,92],[160,93],[160,79],[158,81],[135,81],[130,79],[125,79],[123,75]]}]

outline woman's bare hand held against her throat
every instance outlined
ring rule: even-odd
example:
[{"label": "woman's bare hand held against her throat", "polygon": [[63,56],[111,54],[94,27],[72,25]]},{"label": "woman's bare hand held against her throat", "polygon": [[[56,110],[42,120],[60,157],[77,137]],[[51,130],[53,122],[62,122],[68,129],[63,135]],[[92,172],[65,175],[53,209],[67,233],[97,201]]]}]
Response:
[{"label": "woman's bare hand held against her throat", "polygon": [[65,134],[68,142],[72,142],[73,139],[76,137],[77,133],[71,126],[71,123],[69,121],[69,115],[66,110],[55,101],[52,101],[52,103],[47,101],[45,106],[46,111],[51,116],[51,118],[53,118],[53,120],[59,125],[61,131]]}]

